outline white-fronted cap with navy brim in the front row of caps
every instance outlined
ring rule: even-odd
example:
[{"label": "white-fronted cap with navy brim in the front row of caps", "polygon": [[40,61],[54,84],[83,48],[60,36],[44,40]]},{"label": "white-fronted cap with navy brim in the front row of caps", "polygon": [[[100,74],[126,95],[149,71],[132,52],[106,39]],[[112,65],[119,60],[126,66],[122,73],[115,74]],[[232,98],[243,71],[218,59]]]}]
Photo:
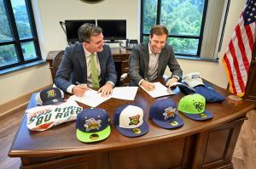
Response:
[{"label": "white-fronted cap with navy brim in the front row of caps", "polygon": [[144,121],[143,116],[143,109],[141,107],[125,104],[115,110],[113,124],[124,136],[142,136],[148,132],[148,123]]}]

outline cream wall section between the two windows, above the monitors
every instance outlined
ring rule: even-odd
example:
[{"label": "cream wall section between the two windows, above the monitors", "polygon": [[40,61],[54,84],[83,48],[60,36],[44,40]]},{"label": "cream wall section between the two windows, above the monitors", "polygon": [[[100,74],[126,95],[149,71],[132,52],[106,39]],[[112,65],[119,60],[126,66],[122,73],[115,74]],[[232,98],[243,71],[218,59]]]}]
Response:
[{"label": "cream wall section between the two windows, above the monitors", "polygon": [[[138,1],[103,0],[101,3],[84,3],[79,0],[41,0],[38,3],[44,42],[44,53],[67,47],[67,39],[59,21],[64,20],[126,20],[127,38],[137,38]],[[39,25],[39,23],[37,22]]]}]

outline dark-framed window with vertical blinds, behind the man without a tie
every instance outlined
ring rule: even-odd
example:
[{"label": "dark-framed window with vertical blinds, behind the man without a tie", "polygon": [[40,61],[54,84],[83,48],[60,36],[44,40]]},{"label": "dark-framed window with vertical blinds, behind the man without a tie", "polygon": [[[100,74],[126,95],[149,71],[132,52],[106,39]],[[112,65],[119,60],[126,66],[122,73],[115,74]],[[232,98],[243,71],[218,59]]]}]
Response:
[{"label": "dark-framed window with vertical blinds, behind the man without a tie", "polygon": [[[229,0],[142,0],[141,41],[152,26],[165,25],[176,55],[216,59]],[[207,8],[209,7],[209,8]],[[206,29],[205,29],[206,28]],[[215,45],[216,44],[216,45]],[[218,44],[218,45],[217,45]],[[217,51],[217,52],[216,52]]]}]

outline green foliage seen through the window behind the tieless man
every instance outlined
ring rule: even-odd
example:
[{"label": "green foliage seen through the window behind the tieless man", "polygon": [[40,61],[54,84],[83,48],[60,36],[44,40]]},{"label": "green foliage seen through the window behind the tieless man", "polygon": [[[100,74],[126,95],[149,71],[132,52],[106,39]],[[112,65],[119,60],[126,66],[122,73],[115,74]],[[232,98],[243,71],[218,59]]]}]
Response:
[{"label": "green foliage seen through the window behind the tieless man", "polygon": [[[147,3],[146,3],[147,2]],[[160,24],[165,25],[170,36],[193,36],[197,38],[169,38],[178,54],[197,54],[201,31],[204,0],[162,0],[160,9]],[[143,34],[148,34],[155,25],[156,0],[144,0]],[[143,41],[146,39],[143,38]]]}]

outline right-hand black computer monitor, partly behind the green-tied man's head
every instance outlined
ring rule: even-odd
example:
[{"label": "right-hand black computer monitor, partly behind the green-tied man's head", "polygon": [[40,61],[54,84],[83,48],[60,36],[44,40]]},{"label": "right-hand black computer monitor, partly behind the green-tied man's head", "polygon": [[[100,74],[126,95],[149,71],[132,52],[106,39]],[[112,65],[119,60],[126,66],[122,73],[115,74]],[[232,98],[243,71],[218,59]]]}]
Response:
[{"label": "right-hand black computer monitor, partly behind the green-tied man's head", "polygon": [[102,28],[104,40],[126,39],[126,20],[97,20],[97,25]]}]

